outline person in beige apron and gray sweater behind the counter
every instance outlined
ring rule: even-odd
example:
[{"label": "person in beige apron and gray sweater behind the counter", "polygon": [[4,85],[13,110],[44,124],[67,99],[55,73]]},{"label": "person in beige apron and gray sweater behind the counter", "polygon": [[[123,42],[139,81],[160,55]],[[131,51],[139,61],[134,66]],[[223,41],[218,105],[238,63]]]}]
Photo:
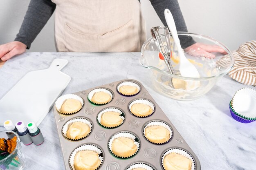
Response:
[{"label": "person in beige apron and gray sweater behind the counter", "polygon": [[[164,9],[168,8],[177,31],[187,32],[177,0],[150,2],[164,25]],[[138,52],[146,40],[139,0],[31,0],[16,39],[0,45],[0,59],[6,61],[29,49],[54,11],[58,52]],[[211,46],[193,41],[186,43],[188,46],[191,51],[200,49],[201,54],[212,52]]]}]

